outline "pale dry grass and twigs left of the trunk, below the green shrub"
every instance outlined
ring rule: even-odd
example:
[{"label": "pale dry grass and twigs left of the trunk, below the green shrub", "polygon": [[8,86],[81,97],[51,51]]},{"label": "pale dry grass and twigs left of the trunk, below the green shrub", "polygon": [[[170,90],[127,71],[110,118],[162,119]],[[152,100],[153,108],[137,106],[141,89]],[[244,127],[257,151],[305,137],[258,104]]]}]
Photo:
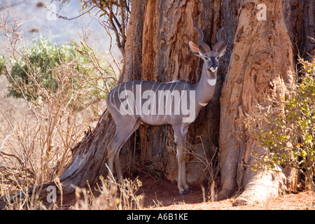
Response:
[{"label": "pale dry grass and twigs left of the trunk, below the green shrub", "polygon": [[[74,87],[71,80],[80,74],[71,62],[53,72],[58,75],[56,92],[45,90],[36,83],[36,76],[29,74],[44,95],[39,100],[8,97],[9,84],[1,76],[0,197],[10,198],[8,209],[38,208],[37,196],[29,197],[26,189],[56,180],[71,160],[71,148],[96,125],[105,108],[104,102]],[[76,101],[89,97],[90,103],[78,109]]]}]

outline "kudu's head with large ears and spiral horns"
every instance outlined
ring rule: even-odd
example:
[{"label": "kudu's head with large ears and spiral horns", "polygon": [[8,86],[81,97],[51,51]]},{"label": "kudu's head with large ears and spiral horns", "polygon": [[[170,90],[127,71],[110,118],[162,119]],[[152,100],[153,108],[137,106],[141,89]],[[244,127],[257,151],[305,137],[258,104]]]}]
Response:
[{"label": "kudu's head with large ears and spiral horns", "polygon": [[204,64],[206,66],[207,78],[216,78],[216,71],[218,70],[218,59],[219,57],[222,57],[225,54],[225,50],[227,45],[224,45],[224,42],[221,41],[221,33],[224,29],[224,27],[221,27],[221,29],[218,30],[216,34],[216,38],[218,38],[218,43],[214,45],[213,50],[207,45],[207,43],[203,42],[204,34],[202,33],[202,30],[199,29],[196,25],[196,20],[194,22],[194,28],[199,33],[199,47],[195,45],[192,41],[189,41],[190,50],[193,52],[194,55],[197,57],[201,57],[204,60]]}]

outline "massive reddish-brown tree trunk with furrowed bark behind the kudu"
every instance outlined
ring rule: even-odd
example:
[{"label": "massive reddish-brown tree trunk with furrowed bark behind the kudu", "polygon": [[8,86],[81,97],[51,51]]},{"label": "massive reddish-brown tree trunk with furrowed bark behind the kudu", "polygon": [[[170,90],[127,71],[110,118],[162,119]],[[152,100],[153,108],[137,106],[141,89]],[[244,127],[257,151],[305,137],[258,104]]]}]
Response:
[{"label": "massive reddish-brown tree trunk with furrowed bark behind the kudu", "polygon": [[[257,19],[259,3],[266,6],[267,20]],[[216,148],[220,148],[218,196],[229,197],[241,189],[244,193],[236,204],[264,201],[278,193],[281,178],[261,176],[249,169],[254,162],[251,152],[260,148],[244,127],[243,119],[246,114],[258,114],[257,104],[267,106],[266,96],[286,96],[286,85],[294,82],[288,71],[294,71],[297,52],[307,59],[314,56],[315,43],[307,38],[314,37],[313,0],[133,0],[120,82],[197,82],[200,59],[188,47],[188,41],[197,42],[199,38],[193,29],[193,18],[210,46],[216,43],[216,31],[224,26],[223,40],[228,48],[220,61],[214,98],[188,130],[190,150],[203,158],[200,161],[200,157],[188,156],[188,183],[209,179],[204,162],[210,161]],[[72,186],[86,187],[98,181],[100,175],[107,175],[106,146],[115,130],[105,110],[97,127],[73,148],[71,163],[59,176],[64,194],[73,193]],[[172,133],[167,126],[142,125],[137,137],[131,137],[120,153],[123,170],[132,162],[124,155],[130,155],[130,148],[138,149],[138,163],[150,161],[175,181],[177,162]]]}]

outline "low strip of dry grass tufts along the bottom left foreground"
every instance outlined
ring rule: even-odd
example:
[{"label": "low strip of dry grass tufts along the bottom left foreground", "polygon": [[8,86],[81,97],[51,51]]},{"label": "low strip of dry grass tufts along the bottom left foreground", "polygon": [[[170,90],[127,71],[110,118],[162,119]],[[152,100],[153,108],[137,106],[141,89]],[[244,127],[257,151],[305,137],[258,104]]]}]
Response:
[{"label": "low strip of dry grass tufts along the bottom left foreground", "polygon": [[[144,202],[144,195],[137,194],[137,191],[142,186],[139,179],[134,181],[123,180],[123,183],[114,184],[117,186],[116,193],[111,194],[112,188],[109,186],[109,181],[100,177],[100,185],[96,188],[76,188],[75,190],[75,202],[71,200],[73,204],[64,204],[62,195],[61,183],[56,179],[55,184],[60,191],[59,202],[47,203],[39,194],[43,189],[43,185],[39,185],[36,188],[25,188],[13,195],[4,195],[6,200],[7,210],[132,210],[142,209]],[[56,186],[53,186],[55,188]],[[47,187],[47,186],[46,186]],[[49,196],[47,196],[49,197]]]}]

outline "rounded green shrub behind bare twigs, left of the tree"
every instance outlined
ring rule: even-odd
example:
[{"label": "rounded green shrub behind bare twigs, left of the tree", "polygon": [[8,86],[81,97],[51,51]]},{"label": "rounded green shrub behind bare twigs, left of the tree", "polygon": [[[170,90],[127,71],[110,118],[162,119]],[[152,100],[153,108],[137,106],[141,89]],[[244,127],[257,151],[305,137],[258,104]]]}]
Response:
[{"label": "rounded green shrub behind bare twigs, left of the tree", "polygon": [[[57,91],[66,76],[67,82],[71,82],[71,91],[80,92],[80,100],[76,102],[82,104],[92,96],[106,97],[104,77],[79,53],[76,43],[57,45],[43,37],[34,39],[33,43],[25,49],[25,55],[10,59],[10,95],[32,101],[45,99]],[[71,92],[68,94],[71,98]]]}]

